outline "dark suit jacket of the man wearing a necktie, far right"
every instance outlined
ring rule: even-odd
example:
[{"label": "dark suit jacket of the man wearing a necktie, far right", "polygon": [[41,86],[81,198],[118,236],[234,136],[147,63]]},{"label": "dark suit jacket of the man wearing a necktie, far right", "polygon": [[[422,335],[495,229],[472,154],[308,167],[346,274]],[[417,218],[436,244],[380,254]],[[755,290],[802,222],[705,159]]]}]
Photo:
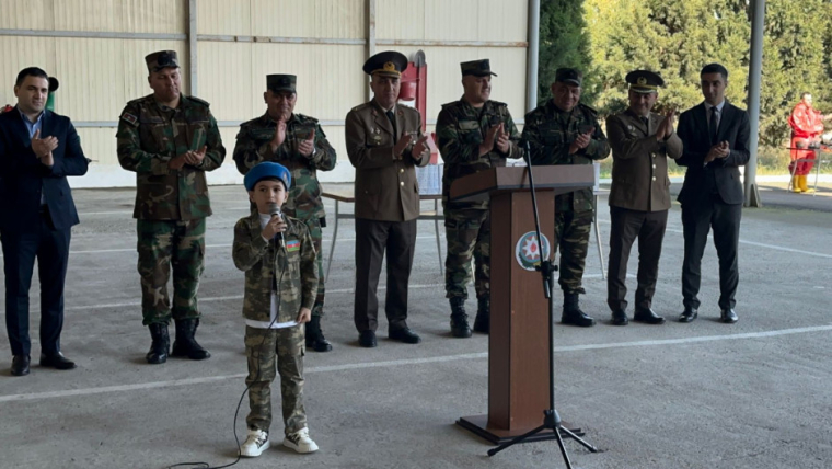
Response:
[{"label": "dark suit jacket of the man wearing a necktie, far right", "polygon": [[748,113],[728,101],[725,102],[717,129],[717,141],[728,141],[730,155],[709,162],[707,171],[704,162],[712,144],[708,138],[708,121],[704,103],[682,113],[679,117],[677,134],[682,139],[684,149],[682,157],[675,161],[681,167],[687,167],[678,201],[683,206],[694,206],[708,201],[710,195],[706,191],[708,182],[705,178],[709,178],[709,172],[713,171],[716,188],[723,202],[742,204],[739,167],[744,165],[750,156],[751,125]]}]

